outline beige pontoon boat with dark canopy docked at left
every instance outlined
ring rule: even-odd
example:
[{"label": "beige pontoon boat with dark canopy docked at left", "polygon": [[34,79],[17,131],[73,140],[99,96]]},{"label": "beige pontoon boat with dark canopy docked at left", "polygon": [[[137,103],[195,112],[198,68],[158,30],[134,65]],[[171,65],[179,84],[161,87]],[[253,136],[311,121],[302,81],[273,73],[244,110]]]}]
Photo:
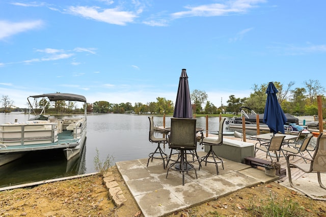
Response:
[{"label": "beige pontoon boat with dark canopy docked at left", "polygon": [[[69,161],[79,154],[86,141],[86,98],[74,94],[43,94],[28,98],[50,101],[83,102],[84,114],[76,117],[51,119],[40,114],[25,122],[7,122],[0,125],[0,166],[14,161],[30,151],[61,149]],[[39,101],[34,101],[39,102]],[[46,107],[46,106],[44,106]],[[31,112],[31,110],[30,110]],[[30,116],[30,115],[29,115]]]}]

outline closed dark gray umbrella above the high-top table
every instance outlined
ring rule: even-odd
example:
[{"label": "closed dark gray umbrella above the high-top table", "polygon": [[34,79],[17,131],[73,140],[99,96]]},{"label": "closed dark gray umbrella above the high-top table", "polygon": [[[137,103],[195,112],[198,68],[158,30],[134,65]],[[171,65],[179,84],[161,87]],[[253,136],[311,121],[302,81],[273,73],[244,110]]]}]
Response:
[{"label": "closed dark gray umbrella above the high-top table", "polygon": [[181,118],[193,117],[193,108],[190,99],[188,76],[185,69],[182,69],[181,72],[173,117],[181,117]]}]

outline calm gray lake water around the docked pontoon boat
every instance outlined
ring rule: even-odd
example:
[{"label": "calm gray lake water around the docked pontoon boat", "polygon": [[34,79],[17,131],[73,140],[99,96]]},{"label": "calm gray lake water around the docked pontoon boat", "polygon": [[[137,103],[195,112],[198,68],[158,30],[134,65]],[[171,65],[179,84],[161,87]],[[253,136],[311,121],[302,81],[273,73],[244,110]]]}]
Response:
[{"label": "calm gray lake water around the docked pontoon boat", "polygon": [[[170,126],[171,117],[166,117]],[[28,115],[0,113],[0,122],[26,121]],[[156,126],[163,126],[163,117],[154,116]],[[209,130],[217,131],[219,117],[208,119]],[[197,118],[197,127],[205,129],[206,118]],[[87,140],[79,158],[67,162],[61,151],[27,154],[21,159],[0,167],[0,187],[59,178],[76,174],[96,172],[94,157],[96,149],[102,161],[107,156],[114,162],[147,158],[156,144],[148,141],[149,120],[147,115],[98,114],[87,116]],[[168,147],[167,147],[168,148]],[[200,147],[199,147],[200,148]],[[166,150],[166,152],[168,152]]]}]

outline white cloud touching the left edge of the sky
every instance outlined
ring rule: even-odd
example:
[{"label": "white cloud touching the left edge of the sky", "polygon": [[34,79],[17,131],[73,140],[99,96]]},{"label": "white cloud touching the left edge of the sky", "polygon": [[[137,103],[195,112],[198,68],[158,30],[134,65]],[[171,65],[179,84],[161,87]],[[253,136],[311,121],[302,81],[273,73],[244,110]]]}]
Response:
[{"label": "white cloud touching the left edge of the sky", "polygon": [[43,26],[43,21],[8,22],[0,20],[0,40]]}]

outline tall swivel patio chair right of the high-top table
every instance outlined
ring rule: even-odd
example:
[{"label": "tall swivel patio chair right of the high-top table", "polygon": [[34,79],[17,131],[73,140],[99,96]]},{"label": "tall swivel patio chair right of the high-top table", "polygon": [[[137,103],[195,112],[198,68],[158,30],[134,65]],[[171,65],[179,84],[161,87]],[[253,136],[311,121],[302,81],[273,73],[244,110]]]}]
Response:
[{"label": "tall swivel patio chair right of the high-top table", "polygon": [[201,158],[200,160],[200,165],[199,165],[199,169],[201,167],[201,163],[205,162],[205,166],[207,166],[207,163],[213,163],[215,164],[216,167],[216,174],[219,175],[219,167],[218,164],[222,163],[222,168],[224,169],[224,165],[223,165],[223,159],[220,158],[215,151],[213,150],[214,146],[220,146],[223,144],[223,126],[224,126],[224,122],[225,122],[225,117],[221,119],[220,121],[220,126],[219,126],[219,131],[218,131],[218,138],[213,137],[205,137],[202,140],[202,145],[209,145],[209,151],[207,152],[207,154]]}]

